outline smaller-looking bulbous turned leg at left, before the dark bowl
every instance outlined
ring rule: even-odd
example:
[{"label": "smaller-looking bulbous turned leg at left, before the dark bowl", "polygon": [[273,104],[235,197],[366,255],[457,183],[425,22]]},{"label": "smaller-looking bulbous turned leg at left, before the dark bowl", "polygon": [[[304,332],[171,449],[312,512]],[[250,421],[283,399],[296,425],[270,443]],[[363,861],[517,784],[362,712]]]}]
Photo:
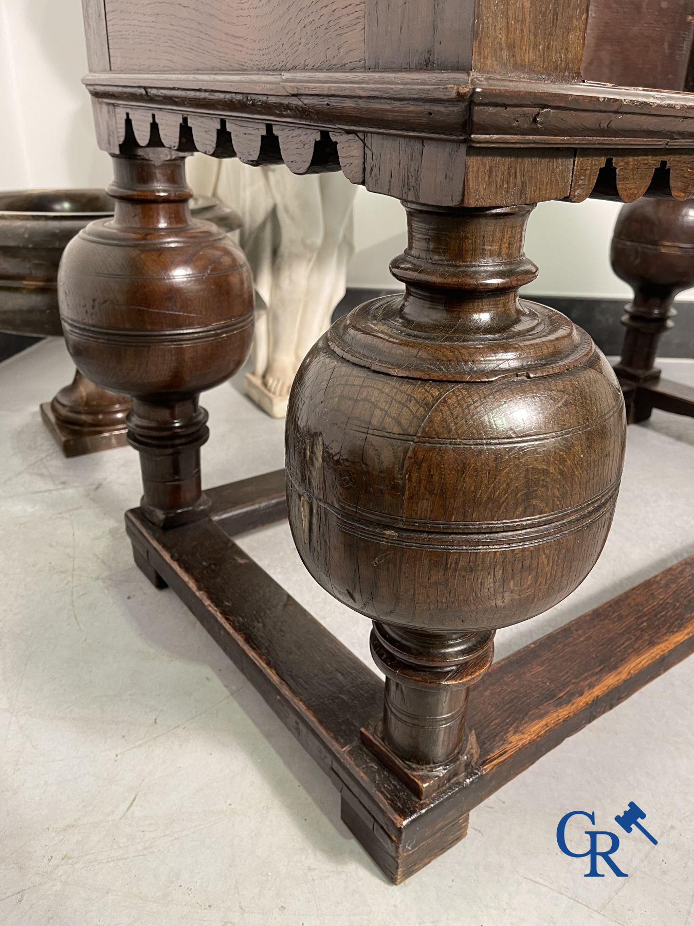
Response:
[{"label": "smaller-looking bulbous turned leg at left, before the dark bowl", "polygon": [[192,219],[183,156],[138,150],[114,156],[114,169],[114,218],[68,244],[60,313],[81,374],[132,398],[143,513],[171,527],[208,510],[200,480],[207,414],[198,396],[248,356],[251,274],[224,231]]}]

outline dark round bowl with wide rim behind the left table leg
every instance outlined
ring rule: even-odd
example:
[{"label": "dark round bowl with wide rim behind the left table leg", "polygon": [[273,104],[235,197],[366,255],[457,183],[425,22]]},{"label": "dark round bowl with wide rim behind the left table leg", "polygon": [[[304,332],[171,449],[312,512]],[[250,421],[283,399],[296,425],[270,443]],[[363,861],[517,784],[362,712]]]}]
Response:
[{"label": "dark round bowl with wide rim behind the left table leg", "polygon": [[[0,331],[62,336],[56,277],[66,244],[93,219],[113,215],[104,190],[0,192]],[[233,232],[238,215],[211,196],[195,196],[196,219]]]}]

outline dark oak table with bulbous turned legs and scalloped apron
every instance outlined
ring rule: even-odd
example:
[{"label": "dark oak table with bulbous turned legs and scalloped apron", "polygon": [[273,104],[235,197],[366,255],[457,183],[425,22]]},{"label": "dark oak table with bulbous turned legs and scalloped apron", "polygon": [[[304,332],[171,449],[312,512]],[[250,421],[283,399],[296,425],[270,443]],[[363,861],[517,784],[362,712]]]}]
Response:
[{"label": "dark oak table with bulbous turned legs and scalloped apron", "polygon": [[[403,881],[692,649],[688,559],[491,665],[496,629],[561,601],[600,555],[625,442],[589,336],[518,297],[537,273],[527,217],[694,193],[688,3],[85,0],[84,16],[117,206],[68,245],[59,300],[79,369],[133,399],[135,560]],[[201,489],[198,397],[247,357],[253,298],[242,252],[191,219],[193,151],[341,169],[407,211],[390,265],[404,293],[338,321],[299,371],[286,481]],[[373,621],[385,688],[234,543],[285,514],[316,581]]]}]

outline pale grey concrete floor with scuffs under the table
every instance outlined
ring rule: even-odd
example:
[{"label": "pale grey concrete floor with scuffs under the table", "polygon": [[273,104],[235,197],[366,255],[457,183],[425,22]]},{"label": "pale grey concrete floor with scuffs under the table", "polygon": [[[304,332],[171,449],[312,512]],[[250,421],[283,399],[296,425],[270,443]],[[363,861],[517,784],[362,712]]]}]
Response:
[{"label": "pale grey concrete floor with scuffs under the table", "polygon": [[[694,382],[694,362],[663,363]],[[39,403],[63,344],[0,365],[0,923],[5,926],[692,926],[694,660],[567,740],[471,816],[467,838],[400,887],[343,826],[313,762],[174,594],[132,565],[139,497],[124,448],[63,459]],[[239,382],[207,394],[204,479],[282,464],[282,422]],[[497,654],[694,552],[694,422],[628,432],[613,531],[561,606],[501,632]],[[308,576],[286,525],[243,547],[360,657],[366,619]],[[596,652],[601,645],[596,639]],[[557,822],[630,800],[658,838],[623,834],[628,878],[585,878]],[[585,826],[570,830],[576,851]]]}]

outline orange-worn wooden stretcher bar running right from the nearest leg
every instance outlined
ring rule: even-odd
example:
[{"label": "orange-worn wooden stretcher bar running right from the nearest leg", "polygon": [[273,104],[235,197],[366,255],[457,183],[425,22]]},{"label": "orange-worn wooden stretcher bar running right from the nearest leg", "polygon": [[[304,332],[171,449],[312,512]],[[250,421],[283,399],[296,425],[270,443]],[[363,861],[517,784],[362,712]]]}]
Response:
[{"label": "orange-worn wooden stretcher bar running right from the nearest leg", "polygon": [[469,707],[484,757],[476,802],[500,786],[497,775],[509,781],[539,750],[549,751],[692,650],[694,557],[688,557],[503,659]]}]

